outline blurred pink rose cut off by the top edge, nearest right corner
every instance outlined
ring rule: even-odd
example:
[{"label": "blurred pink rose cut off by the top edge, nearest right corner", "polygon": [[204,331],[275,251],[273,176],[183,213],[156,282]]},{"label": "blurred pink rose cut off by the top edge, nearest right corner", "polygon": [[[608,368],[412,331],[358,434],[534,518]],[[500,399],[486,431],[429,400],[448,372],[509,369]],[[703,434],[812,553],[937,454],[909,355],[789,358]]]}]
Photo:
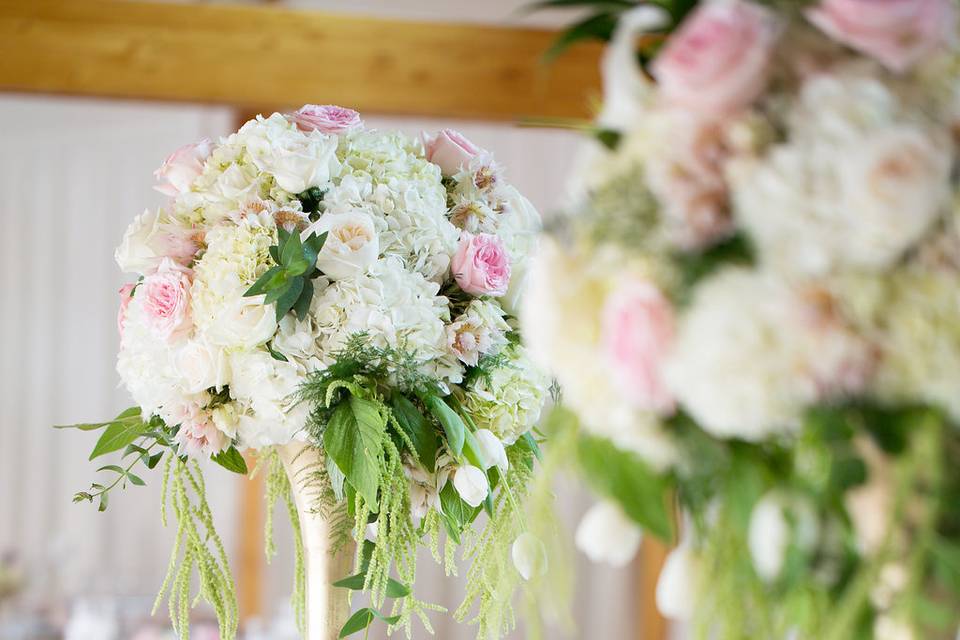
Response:
[{"label": "blurred pink rose cut off by the top edge, nearest right corner", "polygon": [[806,15],[831,38],[898,73],[956,29],[952,0],[821,0]]}]

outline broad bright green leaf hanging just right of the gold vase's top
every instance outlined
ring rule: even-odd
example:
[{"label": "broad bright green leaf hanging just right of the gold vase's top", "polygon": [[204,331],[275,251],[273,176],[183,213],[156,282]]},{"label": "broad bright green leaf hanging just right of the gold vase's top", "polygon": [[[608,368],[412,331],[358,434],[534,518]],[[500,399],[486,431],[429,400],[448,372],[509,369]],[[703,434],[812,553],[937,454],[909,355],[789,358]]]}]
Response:
[{"label": "broad bright green leaf hanging just right of the gold vase's top", "polygon": [[323,431],[327,454],[374,512],[378,508],[385,426],[376,402],[350,396],[337,405]]}]

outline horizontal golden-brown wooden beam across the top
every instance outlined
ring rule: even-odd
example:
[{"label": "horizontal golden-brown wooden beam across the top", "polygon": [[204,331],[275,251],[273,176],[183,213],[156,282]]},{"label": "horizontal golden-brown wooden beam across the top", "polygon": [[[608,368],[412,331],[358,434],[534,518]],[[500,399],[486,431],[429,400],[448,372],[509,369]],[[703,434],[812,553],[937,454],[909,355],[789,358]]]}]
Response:
[{"label": "horizontal golden-brown wooden beam across the top", "polygon": [[265,6],[0,0],[0,91],[510,120],[585,118],[599,45]]}]

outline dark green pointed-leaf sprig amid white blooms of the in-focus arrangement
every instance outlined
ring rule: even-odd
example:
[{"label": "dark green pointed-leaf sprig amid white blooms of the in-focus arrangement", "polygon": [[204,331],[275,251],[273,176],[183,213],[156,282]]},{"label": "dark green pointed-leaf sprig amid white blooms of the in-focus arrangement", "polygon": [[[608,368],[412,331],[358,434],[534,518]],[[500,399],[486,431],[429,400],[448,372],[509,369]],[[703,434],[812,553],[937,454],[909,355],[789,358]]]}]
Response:
[{"label": "dark green pointed-leaf sprig amid white blooms of the in-focus arrangement", "polygon": [[[270,256],[276,262],[243,294],[247,297],[263,295],[264,304],[275,304],[277,322],[293,311],[303,320],[313,299],[313,278],[320,275],[317,256],[327,234],[310,236],[301,241],[300,232],[277,228],[278,243],[270,247]],[[271,349],[272,353],[272,349]]]}]

